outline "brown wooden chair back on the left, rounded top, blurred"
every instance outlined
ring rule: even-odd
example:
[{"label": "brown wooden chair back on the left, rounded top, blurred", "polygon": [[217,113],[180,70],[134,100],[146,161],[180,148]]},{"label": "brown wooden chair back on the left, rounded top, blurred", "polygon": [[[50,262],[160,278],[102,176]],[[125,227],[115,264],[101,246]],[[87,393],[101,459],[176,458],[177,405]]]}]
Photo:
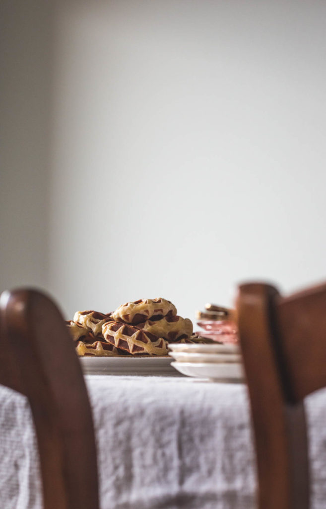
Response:
[{"label": "brown wooden chair back on the left, rounded top, blurred", "polygon": [[94,429],[73,342],[53,302],[31,290],[0,299],[0,383],[29,401],[45,509],[98,509]]}]

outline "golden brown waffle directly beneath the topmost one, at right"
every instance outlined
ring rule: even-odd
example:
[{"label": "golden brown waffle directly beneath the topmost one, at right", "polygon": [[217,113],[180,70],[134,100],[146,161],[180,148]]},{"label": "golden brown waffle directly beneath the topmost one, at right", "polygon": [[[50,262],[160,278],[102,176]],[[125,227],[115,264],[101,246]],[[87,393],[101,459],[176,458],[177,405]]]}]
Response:
[{"label": "golden brown waffle directly beneath the topmost one, at right", "polygon": [[187,339],[192,334],[191,320],[178,315],[168,315],[157,321],[147,320],[138,324],[137,328],[164,337],[169,343]]}]

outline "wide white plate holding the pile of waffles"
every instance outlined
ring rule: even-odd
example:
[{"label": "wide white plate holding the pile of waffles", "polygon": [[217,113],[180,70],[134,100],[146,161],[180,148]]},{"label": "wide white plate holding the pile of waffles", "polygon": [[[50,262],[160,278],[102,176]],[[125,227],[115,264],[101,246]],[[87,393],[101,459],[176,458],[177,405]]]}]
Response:
[{"label": "wide white plate holding the pile of waffles", "polygon": [[85,375],[180,376],[171,357],[80,357]]}]

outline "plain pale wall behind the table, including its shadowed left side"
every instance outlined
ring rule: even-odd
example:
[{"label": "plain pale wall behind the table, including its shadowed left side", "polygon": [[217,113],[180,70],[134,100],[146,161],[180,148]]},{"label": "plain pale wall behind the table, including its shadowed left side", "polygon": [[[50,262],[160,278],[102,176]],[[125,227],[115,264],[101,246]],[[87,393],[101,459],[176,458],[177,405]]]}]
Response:
[{"label": "plain pale wall behind the table, including its shadowed left side", "polygon": [[326,3],[2,7],[1,290],[193,319],[325,278]]}]

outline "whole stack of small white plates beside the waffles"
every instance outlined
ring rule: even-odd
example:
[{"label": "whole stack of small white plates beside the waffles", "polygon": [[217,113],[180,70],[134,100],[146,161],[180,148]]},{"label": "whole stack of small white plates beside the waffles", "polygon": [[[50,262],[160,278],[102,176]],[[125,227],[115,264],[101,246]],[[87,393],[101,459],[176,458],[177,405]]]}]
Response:
[{"label": "whole stack of small white plates beside the waffles", "polygon": [[244,378],[240,348],[233,344],[169,344],[171,365],[189,377],[218,381],[242,381]]}]

